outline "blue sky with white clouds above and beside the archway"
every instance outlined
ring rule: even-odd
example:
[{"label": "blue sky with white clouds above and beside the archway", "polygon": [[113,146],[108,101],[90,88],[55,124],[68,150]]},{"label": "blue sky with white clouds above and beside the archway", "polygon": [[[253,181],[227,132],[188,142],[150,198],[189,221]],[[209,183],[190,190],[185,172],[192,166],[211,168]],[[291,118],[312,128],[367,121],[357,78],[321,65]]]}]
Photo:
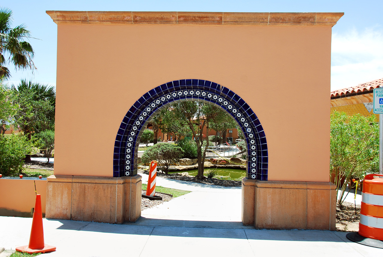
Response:
[{"label": "blue sky with white clouds above and beside the archway", "polygon": [[[38,68],[11,69],[10,83],[21,78],[56,86],[57,25],[46,10],[69,11],[178,11],[178,12],[344,12],[332,28],[331,90],[356,86],[383,77],[383,1],[118,1],[5,0],[13,11],[13,26],[25,23],[34,38]],[[12,27],[13,27],[12,26]],[[11,68],[11,67],[9,67]]]}]

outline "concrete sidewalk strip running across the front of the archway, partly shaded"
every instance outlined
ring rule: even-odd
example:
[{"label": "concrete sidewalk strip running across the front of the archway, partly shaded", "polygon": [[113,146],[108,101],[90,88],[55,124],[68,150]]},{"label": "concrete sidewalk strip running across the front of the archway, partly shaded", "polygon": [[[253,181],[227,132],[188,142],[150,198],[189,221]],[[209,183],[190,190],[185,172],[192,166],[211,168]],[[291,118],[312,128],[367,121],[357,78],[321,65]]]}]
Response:
[{"label": "concrete sidewalk strip running across the front of the archway, partly shaded", "polygon": [[[31,218],[0,217],[0,248],[29,241]],[[346,232],[142,226],[44,219],[41,256],[382,256],[383,249],[350,242]]]}]

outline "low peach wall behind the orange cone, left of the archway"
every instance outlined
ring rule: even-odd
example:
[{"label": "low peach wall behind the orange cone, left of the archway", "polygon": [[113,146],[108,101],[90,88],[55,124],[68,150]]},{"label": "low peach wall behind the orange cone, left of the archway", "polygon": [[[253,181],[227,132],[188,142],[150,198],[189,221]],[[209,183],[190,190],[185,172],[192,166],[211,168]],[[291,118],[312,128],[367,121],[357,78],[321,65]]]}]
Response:
[{"label": "low peach wall behind the orange cone, left of the archway", "polygon": [[0,216],[32,217],[36,191],[41,194],[41,208],[45,217],[46,178],[0,178]]}]

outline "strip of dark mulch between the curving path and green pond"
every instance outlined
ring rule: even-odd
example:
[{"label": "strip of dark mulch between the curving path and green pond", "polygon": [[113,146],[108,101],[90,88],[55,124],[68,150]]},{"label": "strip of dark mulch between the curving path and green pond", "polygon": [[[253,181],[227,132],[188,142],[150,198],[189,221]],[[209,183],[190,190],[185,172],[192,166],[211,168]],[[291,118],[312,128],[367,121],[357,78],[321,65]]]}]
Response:
[{"label": "strip of dark mulch between the curving path and green pond", "polygon": [[[149,175],[149,171],[139,170],[139,172]],[[182,181],[190,181],[195,183],[207,184],[207,185],[215,185],[215,186],[226,186],[226,187],[238,187],[242,186],[242,181],[240,180],[219,180],[218,178],[206,178],[203,180],[197,180],[194,176],[182,176],[177,173],[173,174],[164,174],[161,172],[157,172],[157,175],[163,178],[170,178],[172,180],[182,180]]]}]

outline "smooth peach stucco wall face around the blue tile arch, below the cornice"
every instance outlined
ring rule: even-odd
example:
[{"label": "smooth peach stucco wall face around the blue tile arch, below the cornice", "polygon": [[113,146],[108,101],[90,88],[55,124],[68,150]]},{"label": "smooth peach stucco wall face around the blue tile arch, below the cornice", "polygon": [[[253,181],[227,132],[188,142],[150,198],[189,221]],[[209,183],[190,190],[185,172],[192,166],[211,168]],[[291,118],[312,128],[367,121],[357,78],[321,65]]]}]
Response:
[{"label": "smooth peach stucco wall face around the blue tile arch, below the cornice", "polygon": [[328,182],[330,62],[331,26],[59,24],[54,174],[113,176],[131,105],[205,79],[259,117],[268,180]]}]

